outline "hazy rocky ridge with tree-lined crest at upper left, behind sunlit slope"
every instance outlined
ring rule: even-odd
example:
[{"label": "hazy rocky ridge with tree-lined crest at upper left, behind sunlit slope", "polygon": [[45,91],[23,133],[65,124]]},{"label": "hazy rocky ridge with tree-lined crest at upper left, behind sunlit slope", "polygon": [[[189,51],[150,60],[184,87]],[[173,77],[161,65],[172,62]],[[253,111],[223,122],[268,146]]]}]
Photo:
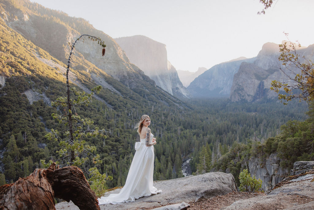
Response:
[{"label": "hazy rocky ridge with tree-lined crest at upper left, behind sunlit slope", "polygon": [[[12,6],[14,4],[15,6]],[[46,9],[28,0],[14,2],[14,4],[3,1],[1,5],[1,13],[6,25],[63,63],[67,62],[69,42],[73,42],[81,34],[100,37],[107,45],[104,57],[99,53],[101,50],[99,45],[87,38],[84,43],[75,46],[71,67],[90,80],[97,81],[101,71],[101,74],[111,76],[135,91],[151,87],[156,89],[155,82],[129,62],[114,39],[96,30],[86,20],[69,17],[61,11]]]}]

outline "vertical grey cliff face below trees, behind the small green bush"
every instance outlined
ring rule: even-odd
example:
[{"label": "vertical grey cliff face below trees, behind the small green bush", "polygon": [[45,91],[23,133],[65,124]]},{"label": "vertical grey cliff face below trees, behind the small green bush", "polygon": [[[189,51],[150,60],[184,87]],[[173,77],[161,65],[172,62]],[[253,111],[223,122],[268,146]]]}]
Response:
[{"label": "vertical grey cliff face below trees, behind the small green bush", "polygon": [[251,158],[248,161],[251,175],[256,179],[261,179],[262,189],[265,192],[272,190],[273,187],[281,182],[284,177],[289,175],[289,169],[280,167],[280,158],[277,154],[271,154],[268,158]]}]

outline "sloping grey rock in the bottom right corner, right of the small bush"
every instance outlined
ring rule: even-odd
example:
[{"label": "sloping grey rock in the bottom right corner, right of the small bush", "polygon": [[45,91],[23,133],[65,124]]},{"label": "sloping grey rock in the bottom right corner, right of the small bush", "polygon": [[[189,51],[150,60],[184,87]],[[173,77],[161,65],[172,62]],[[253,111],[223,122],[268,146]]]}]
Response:
[{"label": "sloping grey rock in the bottom right corner, right of the small bush", "polygon": [[314,209],[313,161],[295,162],[291,173],[300,174],[287,177],[266,196],[238,200],[223,209]]}]

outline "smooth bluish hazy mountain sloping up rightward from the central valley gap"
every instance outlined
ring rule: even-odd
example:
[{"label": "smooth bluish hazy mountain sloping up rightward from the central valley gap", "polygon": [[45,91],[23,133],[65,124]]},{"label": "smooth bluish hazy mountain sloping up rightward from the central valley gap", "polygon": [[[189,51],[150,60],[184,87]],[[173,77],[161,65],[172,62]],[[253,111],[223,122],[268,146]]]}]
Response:
[{"label": "smooth bluish hazy mountain sloping up rightward from the central valley gap", "polygon": [[239,59],[214,65],[191,82],[187,87],[191,97],[229,97],[233,76],[243,61],[253,62],[254,59]]}]

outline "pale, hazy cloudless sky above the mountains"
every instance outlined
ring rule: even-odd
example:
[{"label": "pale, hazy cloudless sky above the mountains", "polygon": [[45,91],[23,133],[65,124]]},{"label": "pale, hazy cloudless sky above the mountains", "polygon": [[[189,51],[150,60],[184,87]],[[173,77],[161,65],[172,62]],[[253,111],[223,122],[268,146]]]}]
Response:
[{"label": "pale, hazy cloudless sky above the mountains", "polygon": [[[177,70],[195,72],[244,56],[264,43],[314,44],[313,0],[30,0],[81,17],[112,38],[143,35],[167,49]],[[101,37],[100,37],[101,38]]]}]

